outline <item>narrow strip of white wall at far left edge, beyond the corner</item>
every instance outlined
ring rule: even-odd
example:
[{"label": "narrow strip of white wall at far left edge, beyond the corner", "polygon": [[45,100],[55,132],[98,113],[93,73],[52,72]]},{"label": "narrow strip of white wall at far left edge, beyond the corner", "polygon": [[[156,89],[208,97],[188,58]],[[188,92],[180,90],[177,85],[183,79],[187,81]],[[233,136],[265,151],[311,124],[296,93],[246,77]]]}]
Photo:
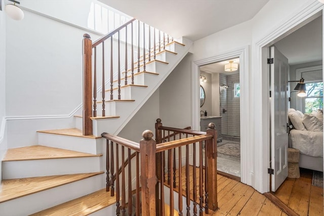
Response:
[{"label": "narrow strip of white wall at far left edge, beyond the corner", "polygon": [[[4,3],[3,3],[4,7]],[[6,117],[6,14],[0,11],[0,161],[7,150]],[[0,181],[2,170],[0,165]]]}]

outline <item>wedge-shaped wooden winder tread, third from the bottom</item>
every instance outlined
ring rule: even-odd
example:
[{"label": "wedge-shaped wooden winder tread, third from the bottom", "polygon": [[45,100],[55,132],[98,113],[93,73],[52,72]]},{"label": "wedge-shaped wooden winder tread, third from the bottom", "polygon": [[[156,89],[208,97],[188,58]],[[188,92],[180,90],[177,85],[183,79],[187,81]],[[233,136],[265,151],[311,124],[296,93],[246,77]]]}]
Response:
[{"label": "wedge-shaped wooden winder tread, third from the bottom", "polygon": [[66,149],[53,148],[42,145],[27,146],[21,148],[8,149],[3,162],[21,160],[41,160],[55,158],[73,157],[97,157],[102,154],[89,154]]}]

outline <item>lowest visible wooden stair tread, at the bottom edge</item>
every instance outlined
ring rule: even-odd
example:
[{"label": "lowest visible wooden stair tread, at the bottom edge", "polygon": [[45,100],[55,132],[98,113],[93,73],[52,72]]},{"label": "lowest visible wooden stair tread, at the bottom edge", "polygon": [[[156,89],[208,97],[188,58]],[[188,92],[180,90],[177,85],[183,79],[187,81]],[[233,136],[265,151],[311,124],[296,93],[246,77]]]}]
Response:
[{"label": "lowest visible wooden stair tread, at the bottom edge", "polygon": [[31,215],[89,215],[114,203],[116,203],[115,196],[110,196],[110,192],[101,189]]}]

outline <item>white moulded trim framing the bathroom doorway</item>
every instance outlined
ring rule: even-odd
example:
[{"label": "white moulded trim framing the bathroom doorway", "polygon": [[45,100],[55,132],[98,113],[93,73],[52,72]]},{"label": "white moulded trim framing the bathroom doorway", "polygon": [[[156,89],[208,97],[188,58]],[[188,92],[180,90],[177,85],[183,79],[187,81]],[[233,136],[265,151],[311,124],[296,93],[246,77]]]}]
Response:
[{"label": "white moulded trim framing the bathroom doorway", "polygon": [[240,135],[241,135],[241,182],[251,185],[248,176],[253,175],[253,171],[249,170],[249,160],[253,158],[253,151],[248,151],[248,145],[250,140],[250,123],[248,115],[242,115],[242,113],[249,113],[249,46],[245,46],[236,50],[229,51],[224,54],[192,62],[191,68],[191,101],[192,101],[192,125],[193,129],[200,131],[200,106],[199,106],[199,67],[202,65],[225,61],[231,58],[239,57],[239,79],[241,83],[241,97],[240,97]]}]

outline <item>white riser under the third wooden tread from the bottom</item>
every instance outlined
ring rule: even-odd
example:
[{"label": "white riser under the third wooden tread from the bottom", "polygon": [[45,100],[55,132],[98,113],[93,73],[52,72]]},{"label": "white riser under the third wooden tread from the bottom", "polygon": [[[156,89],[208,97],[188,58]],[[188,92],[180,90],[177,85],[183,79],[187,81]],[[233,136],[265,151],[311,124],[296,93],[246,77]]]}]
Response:
[{"label": "white riser under the third wooden tread from the bottom", "polygon": [[3,162],[3,179],[19,179],[100,171],[100,157]]}]

